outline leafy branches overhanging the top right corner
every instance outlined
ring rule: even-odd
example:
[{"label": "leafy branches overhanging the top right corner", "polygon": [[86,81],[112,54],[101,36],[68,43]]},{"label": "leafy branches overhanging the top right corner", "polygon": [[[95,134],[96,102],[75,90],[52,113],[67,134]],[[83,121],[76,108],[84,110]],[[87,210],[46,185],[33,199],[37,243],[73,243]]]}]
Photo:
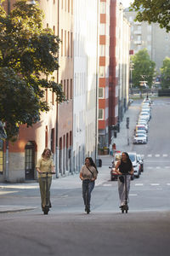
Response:
[{"label": "leafy branches overhanging the top right corner", "polygon": [[169,0],[134,0],[132,10],[137,11],[136,20],[159,23],[161,28],[170,31]]}]

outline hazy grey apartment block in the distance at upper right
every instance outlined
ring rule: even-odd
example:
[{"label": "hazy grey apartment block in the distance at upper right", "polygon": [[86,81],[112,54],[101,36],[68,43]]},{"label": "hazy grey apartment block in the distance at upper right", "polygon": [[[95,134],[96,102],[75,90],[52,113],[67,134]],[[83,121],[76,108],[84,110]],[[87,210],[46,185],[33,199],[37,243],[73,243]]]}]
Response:
[{"label": "hazy grey apartment block in the distance at upper right", "polygon": [[124,15],[131,24],[130,49],[136,54],[140,49],[146,48],[150,59],[156,62],[156,71],[159,72],[165,57],[170,56],[170,33],[161,29],[157,23],[134,21],[136,12],[129,9],[124,9]]}]

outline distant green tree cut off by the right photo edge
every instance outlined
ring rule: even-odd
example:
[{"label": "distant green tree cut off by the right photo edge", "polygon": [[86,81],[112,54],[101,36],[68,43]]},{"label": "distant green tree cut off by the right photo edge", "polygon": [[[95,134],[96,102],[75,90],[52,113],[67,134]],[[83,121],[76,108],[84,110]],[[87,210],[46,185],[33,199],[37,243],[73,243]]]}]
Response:
[{"label": "distant green tree cut off by the right photo edge", "polygon": [[163,60],[161,69],[161,87],[163,89],[170,88],[170,58],[166,57]]}]

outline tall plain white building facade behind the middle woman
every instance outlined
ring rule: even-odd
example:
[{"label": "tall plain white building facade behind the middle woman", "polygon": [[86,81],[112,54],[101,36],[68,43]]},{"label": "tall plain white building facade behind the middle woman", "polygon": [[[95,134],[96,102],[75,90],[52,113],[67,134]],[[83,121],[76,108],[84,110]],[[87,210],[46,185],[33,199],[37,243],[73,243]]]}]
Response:
[{"label": "tall plain white building facade behind the middle woman", "polygon": [[98,137],[99,0],[74,1],[73,168],[86,156],[95,160]]}]

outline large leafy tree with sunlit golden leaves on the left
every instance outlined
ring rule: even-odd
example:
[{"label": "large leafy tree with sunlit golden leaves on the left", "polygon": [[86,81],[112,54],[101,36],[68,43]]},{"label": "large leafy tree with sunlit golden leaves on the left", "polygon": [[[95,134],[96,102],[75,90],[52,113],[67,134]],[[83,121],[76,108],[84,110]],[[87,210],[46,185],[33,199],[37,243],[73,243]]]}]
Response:
[{"label": "large leafy tree with sunlit golden leaves on the left", "polygon": [[61,84],[52,77],[59,68],[60,41],[42,27],[42,19],[38,5],[29,6],[26,0],[15,3],[8,15],[0,6],[0,120],[8,139],[18,134],[19,125],[33,125],[49,110],[46,89],[58,102],[64,100]]}]

